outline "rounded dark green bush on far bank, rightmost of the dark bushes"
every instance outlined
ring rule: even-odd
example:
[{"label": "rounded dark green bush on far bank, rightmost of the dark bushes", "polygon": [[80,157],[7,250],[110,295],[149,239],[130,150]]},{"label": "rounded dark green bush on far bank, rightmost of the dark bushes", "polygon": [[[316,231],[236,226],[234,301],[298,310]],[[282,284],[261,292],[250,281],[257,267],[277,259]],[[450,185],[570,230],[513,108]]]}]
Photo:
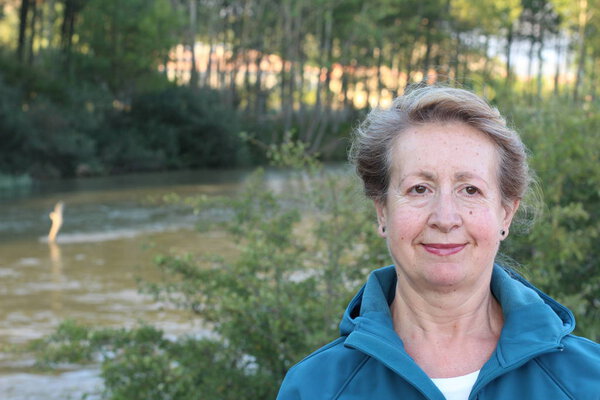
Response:
[{"label": "rounded dark green bush on far bank, rightmost of the dark bushes", "polygon": [[218,93],[169,87],[108,111],[96,140],[115,172],[234,167],[248,161],[239,132],[236,112]]}]

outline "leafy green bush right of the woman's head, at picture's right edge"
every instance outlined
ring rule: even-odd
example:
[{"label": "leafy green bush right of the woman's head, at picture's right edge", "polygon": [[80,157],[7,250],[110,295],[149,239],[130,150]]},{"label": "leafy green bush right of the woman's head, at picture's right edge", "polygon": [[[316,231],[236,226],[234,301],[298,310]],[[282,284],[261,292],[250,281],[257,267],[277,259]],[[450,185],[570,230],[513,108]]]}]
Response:
[{"label": "leafy green bush right of the woman's head, at picture's right edge", "polygon": [[600,340],[600,115],[598,104],[549,98],[505,109],[532,153],[545,210],[505,252],[577,317],[576,332]]}]

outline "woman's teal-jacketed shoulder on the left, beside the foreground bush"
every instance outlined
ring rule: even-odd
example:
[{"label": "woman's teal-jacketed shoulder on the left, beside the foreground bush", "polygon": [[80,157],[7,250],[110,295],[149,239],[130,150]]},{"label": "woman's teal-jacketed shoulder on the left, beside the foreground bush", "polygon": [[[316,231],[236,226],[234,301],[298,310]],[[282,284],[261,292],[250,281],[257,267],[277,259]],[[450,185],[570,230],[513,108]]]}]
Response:
[{"label": "woman's teal-jacketed shoulder on the left, beside the foreground bush", "polygon": [[344,346],[341,337],[310,354],[286,374],[277,400],[335,399],[369,356]]}]

